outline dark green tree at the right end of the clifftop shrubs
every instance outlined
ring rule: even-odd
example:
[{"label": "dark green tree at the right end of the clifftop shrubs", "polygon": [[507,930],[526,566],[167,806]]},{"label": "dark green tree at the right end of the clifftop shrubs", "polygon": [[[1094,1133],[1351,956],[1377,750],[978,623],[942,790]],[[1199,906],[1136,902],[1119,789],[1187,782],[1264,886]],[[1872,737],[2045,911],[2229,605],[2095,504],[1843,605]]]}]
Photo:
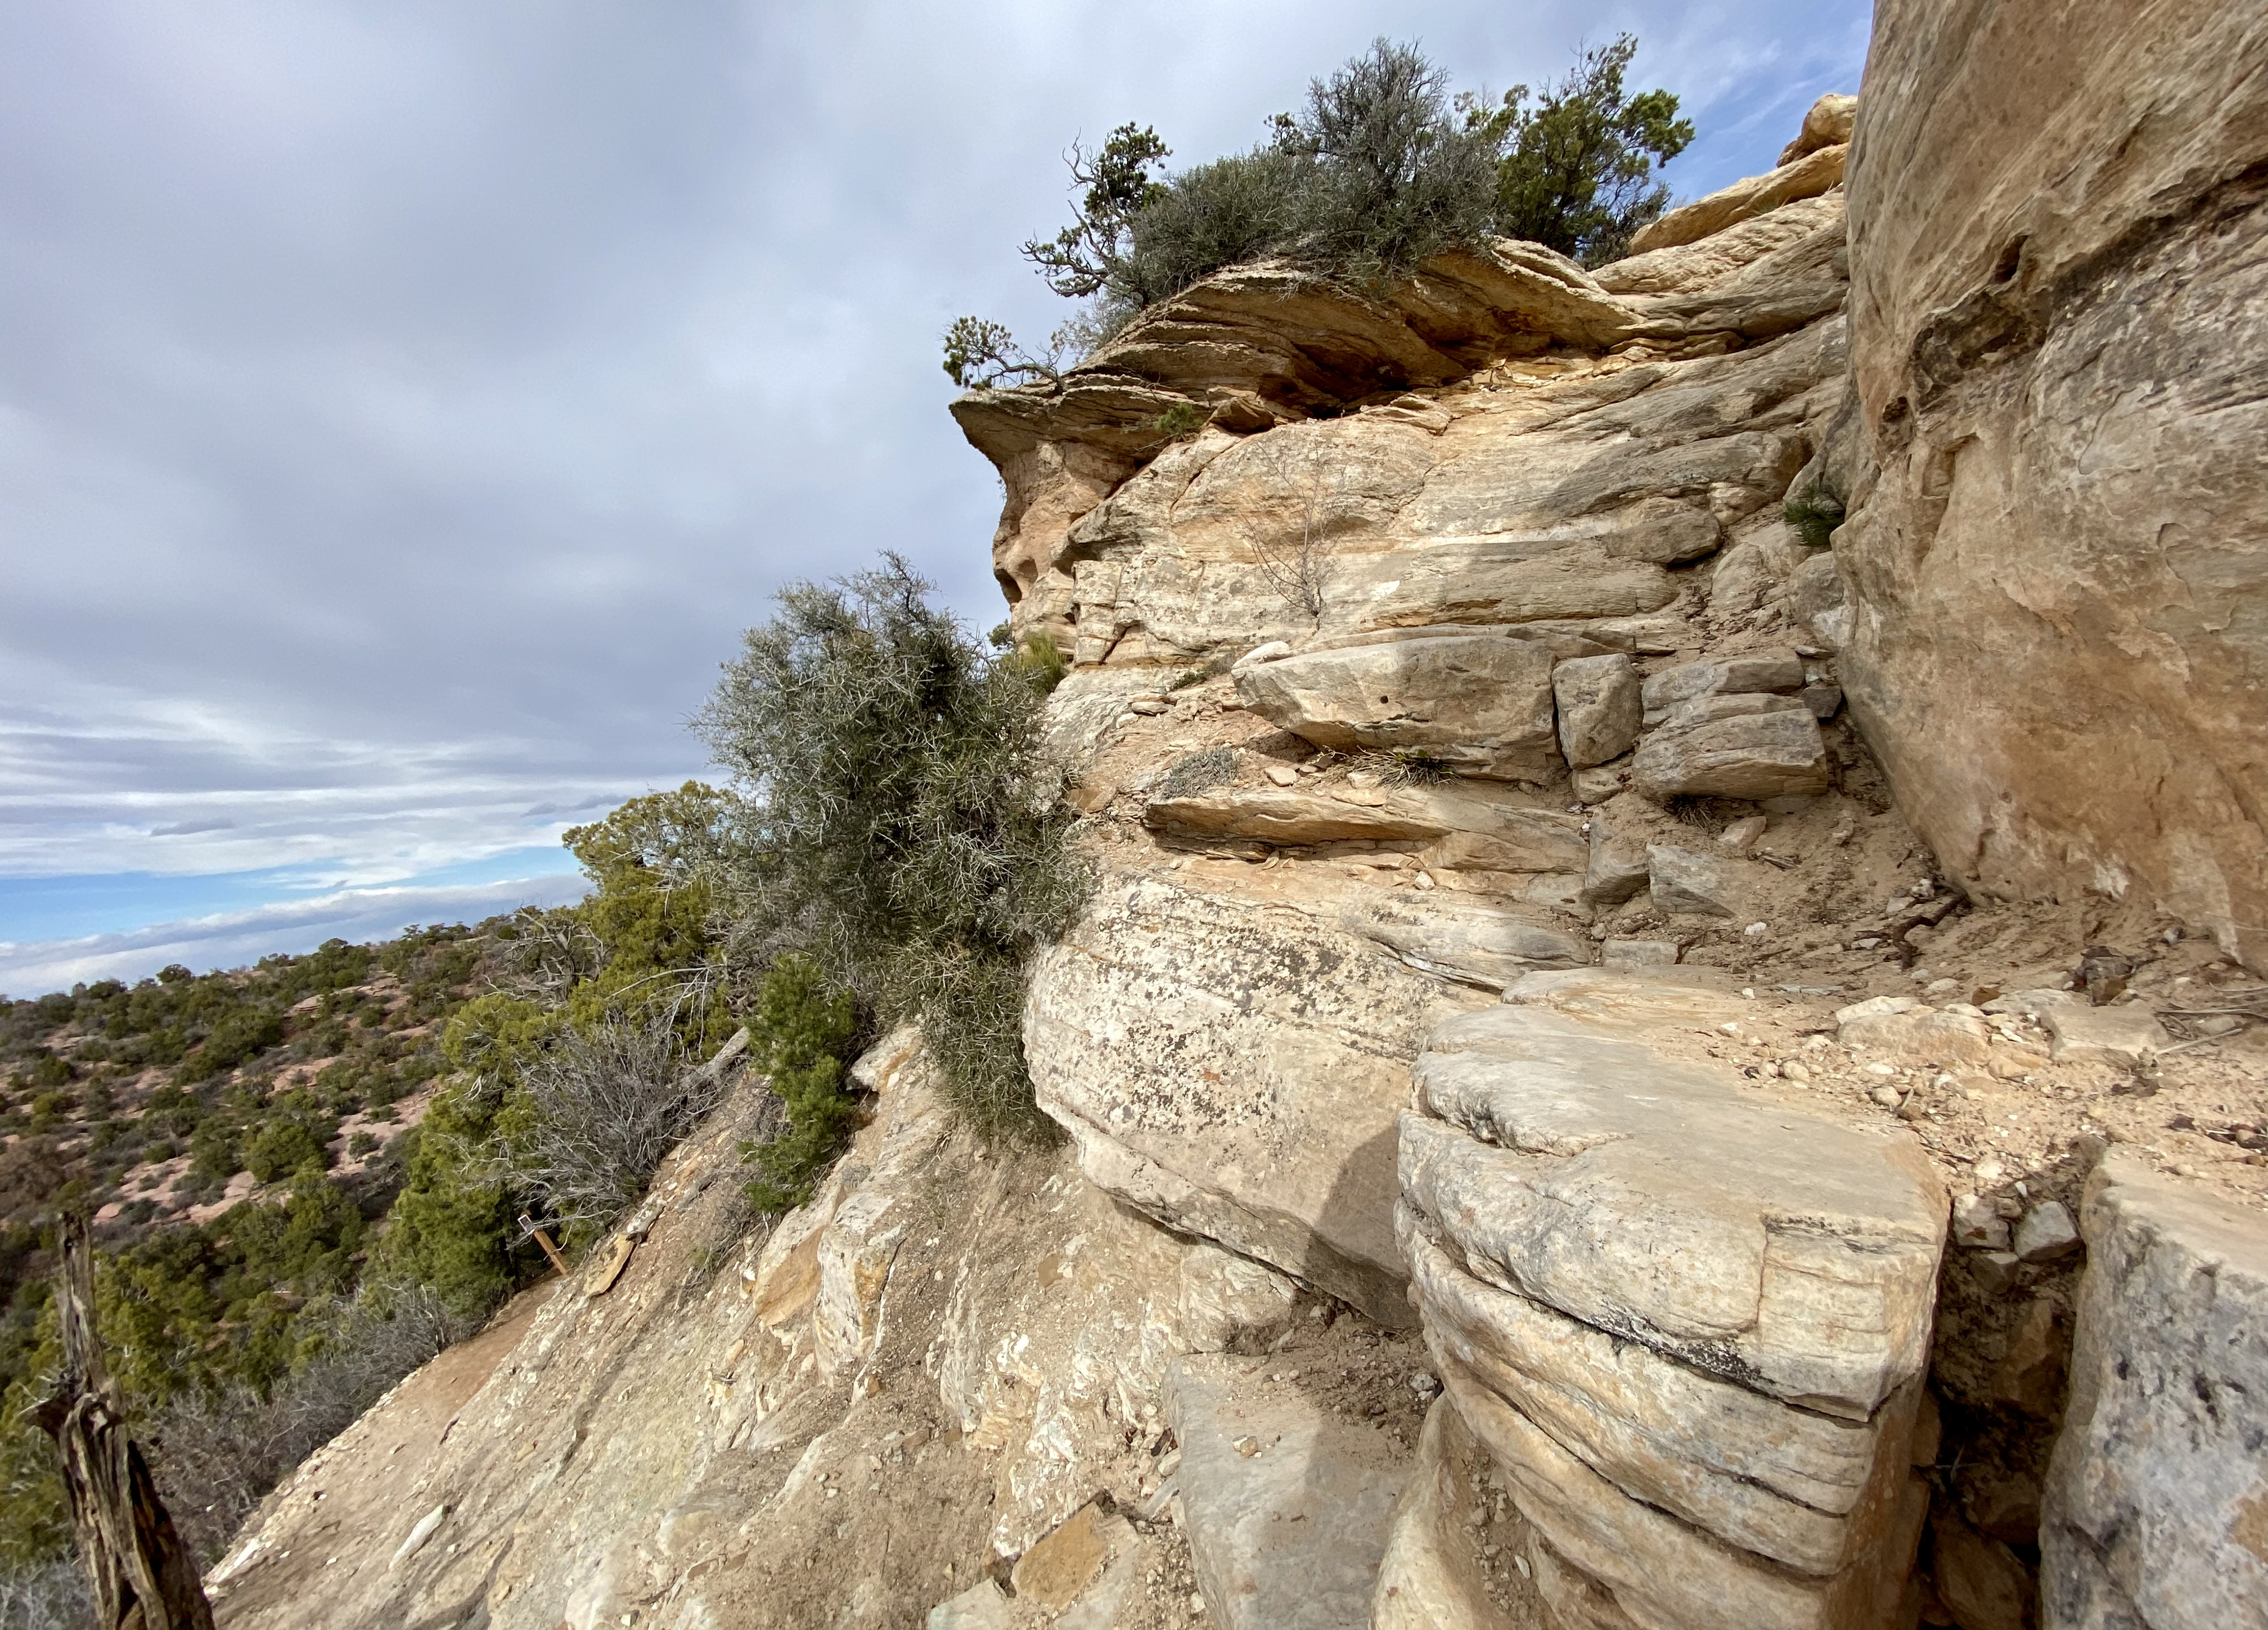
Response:
[{"label": "dark green tree at the right end of the clifftop shrubs", "polygon": [[1497,143],[1497,229],[1603,265],[1628,254],[1631,236],[1669,204],[1656,163],[1694,138],[1669,91],[1624,95],[1637,39],[1576,52],[1574,68],[1529,102],[1515,84],[1504,102],[1465,104],[1467,129]]}]

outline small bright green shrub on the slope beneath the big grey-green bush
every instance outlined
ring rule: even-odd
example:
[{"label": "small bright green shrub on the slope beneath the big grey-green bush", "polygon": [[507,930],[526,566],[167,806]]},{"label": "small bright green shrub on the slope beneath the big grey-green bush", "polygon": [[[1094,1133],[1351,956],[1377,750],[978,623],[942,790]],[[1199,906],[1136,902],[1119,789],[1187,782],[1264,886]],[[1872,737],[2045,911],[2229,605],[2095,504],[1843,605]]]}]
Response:
[{"label": "small bright green shrub on the slope beneath the big grey-green bush", "polygon": [[828,988],[816,961],[787,954],[771,963],[748,1025],[748,1056],[771,1079],[787,1127],[767,1143],[742,1145],[742,1158],[762,1172],[748,1183],[755,1211],[792,1211],[810,1199],[850,1136],[844,1061],[855,1029],[850,993]]}]

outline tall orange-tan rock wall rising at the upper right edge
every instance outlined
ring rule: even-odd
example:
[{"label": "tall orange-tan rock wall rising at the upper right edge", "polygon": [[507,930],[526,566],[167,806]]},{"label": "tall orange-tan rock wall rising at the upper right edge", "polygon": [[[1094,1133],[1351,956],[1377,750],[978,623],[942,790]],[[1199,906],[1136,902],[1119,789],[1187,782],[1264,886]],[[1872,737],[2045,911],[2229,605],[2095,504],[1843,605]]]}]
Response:
[{"label": "tall orange-tan rock wall rising at the upper right edge", "polygon": [[1851,147],[1851,705],[1964,884],[2268,954],[2268,79],[2204,0],[1882,0]]}]

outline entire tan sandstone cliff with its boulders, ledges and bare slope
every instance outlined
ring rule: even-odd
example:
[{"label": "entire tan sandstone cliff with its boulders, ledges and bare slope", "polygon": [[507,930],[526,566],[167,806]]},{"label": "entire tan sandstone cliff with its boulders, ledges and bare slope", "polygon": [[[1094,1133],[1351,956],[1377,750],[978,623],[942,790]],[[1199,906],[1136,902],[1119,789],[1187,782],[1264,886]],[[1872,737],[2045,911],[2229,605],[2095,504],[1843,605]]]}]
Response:
[{"label": "entire tan sandstone cliff with its boulders, ledges and bare slope", "polygon": [[955,404],[1073,655],[1066,1136],[896,1036],[751,1233],[744,1088],[222,1623],[2268,1625],[2241,34],[1885,0],[1599,274],[1238,268]]}]

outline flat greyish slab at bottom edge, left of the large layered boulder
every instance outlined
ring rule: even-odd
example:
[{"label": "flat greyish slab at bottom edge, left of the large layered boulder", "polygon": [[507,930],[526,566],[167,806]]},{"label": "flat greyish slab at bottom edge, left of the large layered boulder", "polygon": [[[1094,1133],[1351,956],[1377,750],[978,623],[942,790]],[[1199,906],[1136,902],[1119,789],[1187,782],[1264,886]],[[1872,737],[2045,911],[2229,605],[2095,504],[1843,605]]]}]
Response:
[{"label": "flat greyish slab at bottom edge, left of the large layered boulder", "polygon": [[1368,1630],[1408,1458],[1250,1358],[1182,1358],[1166,1410],[1198,1589],[1222,1630]]}]

